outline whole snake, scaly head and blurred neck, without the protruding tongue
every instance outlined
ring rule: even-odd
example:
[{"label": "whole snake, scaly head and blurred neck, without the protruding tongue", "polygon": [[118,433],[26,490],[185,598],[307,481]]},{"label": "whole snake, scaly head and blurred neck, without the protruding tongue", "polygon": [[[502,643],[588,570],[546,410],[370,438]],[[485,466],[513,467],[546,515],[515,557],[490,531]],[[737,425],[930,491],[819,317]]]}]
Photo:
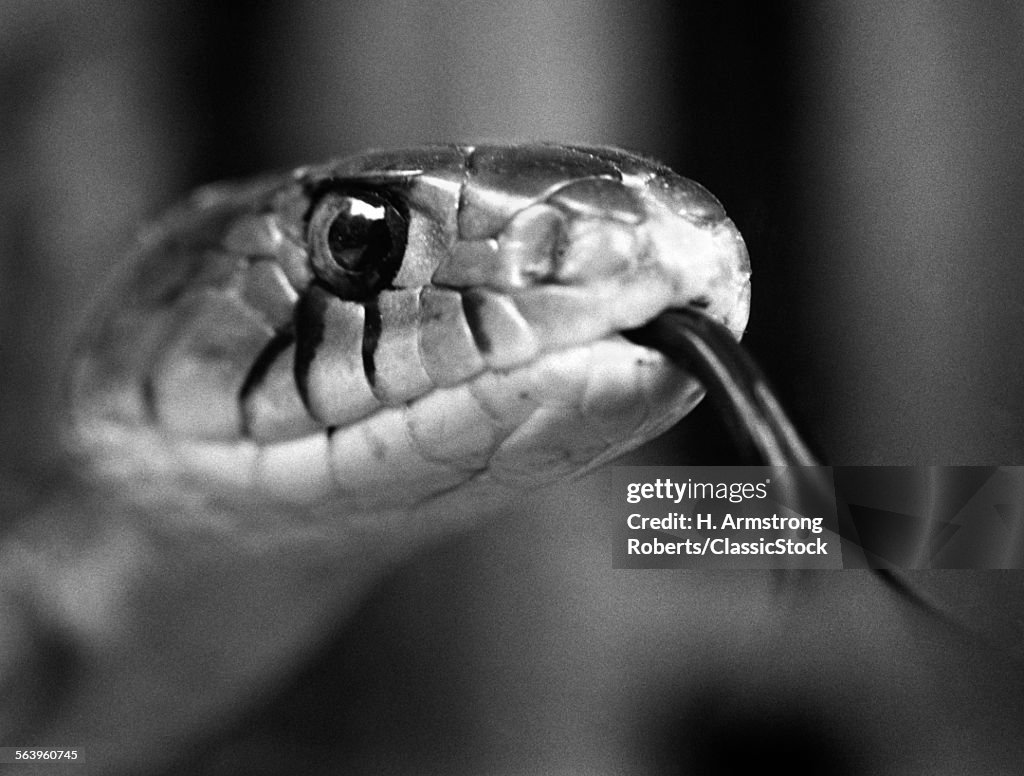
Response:
[{"label": "whole snake, scaly head and blurred neck, without the protruding tongue", "polygon": [[682,310],[736,341],[750,277],[713,195],[611,147],[199,189],[102,290],[66,463],[3,527],[0,742],[173,759],[410,553],[675,425],[705,382],[631,333]]}]

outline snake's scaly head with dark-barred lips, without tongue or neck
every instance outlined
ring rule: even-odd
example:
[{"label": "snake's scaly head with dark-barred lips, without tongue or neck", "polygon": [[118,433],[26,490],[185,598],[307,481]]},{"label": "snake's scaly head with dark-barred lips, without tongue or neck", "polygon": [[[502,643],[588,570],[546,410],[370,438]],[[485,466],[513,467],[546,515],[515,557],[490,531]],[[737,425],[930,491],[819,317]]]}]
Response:
[{"label": "snake's scaly head with dark-barred lips, without tongue or neck", "polygon": [[72,444],[141,494],[479,505],[695,405],[697,382],[623,331],[696,306],[738,339],[749,303],[722,206],[650,160],[366,154],[157,222],[77,350]]}]

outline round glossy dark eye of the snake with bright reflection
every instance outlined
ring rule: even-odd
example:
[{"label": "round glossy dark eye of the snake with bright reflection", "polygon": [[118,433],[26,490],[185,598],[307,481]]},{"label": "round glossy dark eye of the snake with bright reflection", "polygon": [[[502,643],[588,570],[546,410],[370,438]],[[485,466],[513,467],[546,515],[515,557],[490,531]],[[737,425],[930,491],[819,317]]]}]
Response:
[{"label": "round glossy dark eye of the snake with bright reflection", "polygon": [[342,299],[366,299],[394,279],[408,232],[406,214],[381,195],[328,191],[309,218],[313,270]]}]

